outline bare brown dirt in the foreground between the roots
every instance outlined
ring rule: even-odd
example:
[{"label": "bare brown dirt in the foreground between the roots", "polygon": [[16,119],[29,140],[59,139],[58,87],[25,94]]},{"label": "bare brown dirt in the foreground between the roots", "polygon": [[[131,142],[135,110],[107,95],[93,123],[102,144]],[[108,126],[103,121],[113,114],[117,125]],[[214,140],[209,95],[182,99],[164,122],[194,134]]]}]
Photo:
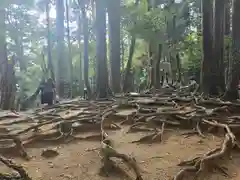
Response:
[{"label": "bare brown dirt in the foreground between the roots", "polygon": [[[132,154],[143,174],[144,180],[170,180],[180,170],[177,164],[198,155],[202,155],[210,149],[214,149],[223,141],[223,138],[213,135],[207,138],[199,136],[185,137],[182,131],[165,130],[163,142],[155,144],[135,144],[144,133],[127,133],[126,129],[111,133],[117,151]],[[99,155],[100,142],[80,141],[71,144],[51,146],[59,152],[55,158],[46,159],[41,156],[44,144],[39,147],[28,149],[29,155],[33,157],[30,161],[14,160],[23,165],[34,180],[134,180],[135,175],[131,169],[120,160],[114,160],[121,167],[111,172],[108,177],[101,176],[101,158]],[[238,157],[239,156],[239,157]],[[227,162],[228,163],[228,162]],[[228,164],[230,177],[224,177],[219,173],[209,173],[206,180],[239,180],[240,179],[240,155],[233,155]],[[0,172],[10,172],[3,164],[0,164]]]}]

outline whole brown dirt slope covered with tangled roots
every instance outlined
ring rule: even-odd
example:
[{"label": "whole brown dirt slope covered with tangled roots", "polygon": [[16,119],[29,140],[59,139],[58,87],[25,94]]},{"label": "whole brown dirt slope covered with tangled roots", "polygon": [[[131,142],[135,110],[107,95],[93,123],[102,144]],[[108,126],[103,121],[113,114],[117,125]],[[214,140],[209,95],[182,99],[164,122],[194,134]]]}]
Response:
[{"label": "whole brown dirt slope covered with tangled roots", "polygon": [[237,180],[239,113],[169,88],[1,112],[0,179]]}]

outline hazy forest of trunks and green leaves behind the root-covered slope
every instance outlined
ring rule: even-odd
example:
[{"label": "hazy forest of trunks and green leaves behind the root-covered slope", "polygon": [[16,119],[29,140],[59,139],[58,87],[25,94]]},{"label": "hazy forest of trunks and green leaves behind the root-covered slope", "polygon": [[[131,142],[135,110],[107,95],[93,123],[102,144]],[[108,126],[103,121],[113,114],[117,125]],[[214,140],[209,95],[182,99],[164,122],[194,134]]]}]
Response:
[{"label": "hazy forest of trunks and green leaves behind the root-covered slope", "polygon": [[[56,82],[60,98],[83,96],[84,87],[89,97],[106,97],[111,92],[160,88],[163,71],[173,85],[186,85],[194,76],[204,94],[225,92],[228,99],[238,98],[236,82],[226,84],[235,72],[231,3],[205,4],[203,0],[201,8],[196,0],[2,1],[2,108],[36,104],[36,89],[48,77]],[[234,13],[232,32],[233,28]],[[209,79],[216,83],[209,84]],[[4,83],[11,85],[4,88]]]}]

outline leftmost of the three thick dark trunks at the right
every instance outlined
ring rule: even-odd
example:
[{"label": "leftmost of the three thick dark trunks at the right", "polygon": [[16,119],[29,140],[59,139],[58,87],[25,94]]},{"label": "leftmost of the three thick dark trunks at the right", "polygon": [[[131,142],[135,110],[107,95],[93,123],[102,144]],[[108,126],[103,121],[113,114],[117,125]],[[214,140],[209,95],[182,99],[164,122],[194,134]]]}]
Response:
[{"label": "leftmost of the three thick dark trunks at the right", "polygon": [[213,58],[212,47],[212,16],[213,4],[211,0],[202,0],[202,33],[203,33],[203,60],[201,69],[201,90],[205,95],[210,93],[211,82],[211,61]]}]

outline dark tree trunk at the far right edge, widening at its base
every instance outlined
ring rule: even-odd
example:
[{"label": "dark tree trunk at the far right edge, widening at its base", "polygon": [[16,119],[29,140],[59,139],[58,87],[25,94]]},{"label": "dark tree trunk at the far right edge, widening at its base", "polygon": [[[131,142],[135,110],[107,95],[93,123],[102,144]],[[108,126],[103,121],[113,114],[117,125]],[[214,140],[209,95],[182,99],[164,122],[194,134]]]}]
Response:
[{"label": "dark tree trunk at the far right edge, widening at its base", "polygon": [[232,15],[232,57],[233,66],[231,78],[228,81],[225,99],[236,100],[239,98],[238,85],[240,79],[240,0],[233,1]]}]

